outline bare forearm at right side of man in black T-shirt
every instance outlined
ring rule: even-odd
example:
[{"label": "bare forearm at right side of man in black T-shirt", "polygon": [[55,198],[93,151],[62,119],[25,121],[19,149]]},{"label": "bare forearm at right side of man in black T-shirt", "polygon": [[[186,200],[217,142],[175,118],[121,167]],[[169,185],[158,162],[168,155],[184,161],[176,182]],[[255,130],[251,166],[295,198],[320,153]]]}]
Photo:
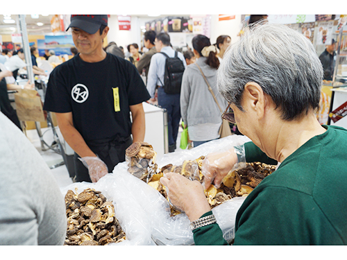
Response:
[{"label": "bare forearm at right side of man in black T-shirt", "polygon": [[131,127],[133,142],[144,141],[146,125],[144,120],[144,107],[142,106],[142,103],[130,105],[130,111],[133,116],[133,125]]}]

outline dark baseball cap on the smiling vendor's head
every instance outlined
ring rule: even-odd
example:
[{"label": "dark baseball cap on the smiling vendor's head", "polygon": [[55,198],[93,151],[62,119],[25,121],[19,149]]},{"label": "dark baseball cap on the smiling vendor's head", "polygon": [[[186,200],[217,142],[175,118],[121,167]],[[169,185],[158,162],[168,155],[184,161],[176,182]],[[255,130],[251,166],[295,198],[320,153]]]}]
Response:
[{"label": "dark baseball cap on the smiling vendor's head", "polygon": [[70,27],[79,28],[87,33],[96,33],[101,25],[108,25],[108,15],[71,15]]}]

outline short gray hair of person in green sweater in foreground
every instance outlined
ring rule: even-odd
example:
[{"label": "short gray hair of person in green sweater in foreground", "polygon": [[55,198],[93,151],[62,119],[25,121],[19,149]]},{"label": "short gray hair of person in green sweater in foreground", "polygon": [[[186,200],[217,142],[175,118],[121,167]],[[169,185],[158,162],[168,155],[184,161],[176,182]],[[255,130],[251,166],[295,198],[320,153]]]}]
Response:
[{"label": "short gray hair of person in green sweater in foreground", "polygon": [[239,110],[244,85],[255,82],[287,121],[319,108],[322,81],[323,67],[310,40],[281,24],[251,28],[228,48],[217,74],[219,92]]}]

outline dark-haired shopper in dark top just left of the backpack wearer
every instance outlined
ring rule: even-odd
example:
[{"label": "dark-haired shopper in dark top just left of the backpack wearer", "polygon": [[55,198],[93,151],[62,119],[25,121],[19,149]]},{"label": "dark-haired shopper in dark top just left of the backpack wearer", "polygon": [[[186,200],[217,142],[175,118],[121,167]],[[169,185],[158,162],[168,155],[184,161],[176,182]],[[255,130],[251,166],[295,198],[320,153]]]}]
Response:
[{"label": "dark-haired shopper in dark top just left of the backpack wearer", "polygon": [[155,36],[157,34],[155,31],[146,31],[144,33],[144,46],[149,49],[144,55],[142,55],[141,59],[139,59],[139,62],[137,63],[137,71],[139,71],[140,74],[144,71],[146,79],[149,75],[149,64],[151,64],[151,58],[152,56],[157,53],[157,50],[154,46]]}]

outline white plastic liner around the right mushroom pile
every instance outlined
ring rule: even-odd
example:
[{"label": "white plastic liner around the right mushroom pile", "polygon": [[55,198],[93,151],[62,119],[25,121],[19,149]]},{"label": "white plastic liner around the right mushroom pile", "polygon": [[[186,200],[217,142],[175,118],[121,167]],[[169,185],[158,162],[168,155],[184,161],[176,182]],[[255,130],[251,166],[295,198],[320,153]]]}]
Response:
[{"label": "white plastic liner around the right mushroom pile", "polygon": [[[201,157],[201,155],[208,155],[208,153],[223,152],[233,146],[242,145],[246,141],[249,141],[248,137],[232,135],[210,141],[191,150],[169,153],[159,158],[157,163],[160,168],[167,164],[180,165],[186,159],[193,160]],[[187,215],[178,214],[171,217],[169,202],[148,184],[130,175],[127,167],[126,162],[124,162],[118,164],[113,170],[117,186],[127,190],[126,193],[119,192],[119,200],[129,205],[129,207],[133,207],[132,205],[135,205],[135,202],[142,207],[142,211],[138,211],[137,216],[141,216],[142,220],[151,223],[153,241],[158,245],[194,244],[193,233],[189,228],[190,221]],[[101,178],[99,182],[103,181],[105,177]],[[236,214],[244,199],[245,197],[233,198],[212,209],[227,241],[231,241],[234,238]]]}]

